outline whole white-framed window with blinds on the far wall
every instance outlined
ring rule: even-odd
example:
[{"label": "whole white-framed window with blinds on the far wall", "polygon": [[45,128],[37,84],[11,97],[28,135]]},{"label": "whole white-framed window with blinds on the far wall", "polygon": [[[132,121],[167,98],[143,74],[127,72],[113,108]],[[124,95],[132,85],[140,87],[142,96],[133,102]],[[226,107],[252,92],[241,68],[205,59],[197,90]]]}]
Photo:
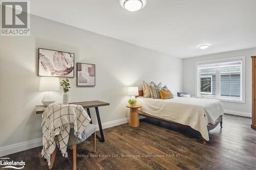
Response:
[{"label": "whole white-framed window with blinds on the far wall", "polygon": [[197,63],[199,98],[245,102],[245,57]]}]

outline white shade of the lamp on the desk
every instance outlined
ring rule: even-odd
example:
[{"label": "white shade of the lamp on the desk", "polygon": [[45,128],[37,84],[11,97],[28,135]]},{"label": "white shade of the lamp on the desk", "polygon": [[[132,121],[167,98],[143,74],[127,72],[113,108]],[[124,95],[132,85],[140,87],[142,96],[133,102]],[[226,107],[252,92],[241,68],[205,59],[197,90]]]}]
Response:
[{"label": "white shade of the lamp on the desk", "polygon": [[41,77],[39,91],[59,91],[59,78]]}]

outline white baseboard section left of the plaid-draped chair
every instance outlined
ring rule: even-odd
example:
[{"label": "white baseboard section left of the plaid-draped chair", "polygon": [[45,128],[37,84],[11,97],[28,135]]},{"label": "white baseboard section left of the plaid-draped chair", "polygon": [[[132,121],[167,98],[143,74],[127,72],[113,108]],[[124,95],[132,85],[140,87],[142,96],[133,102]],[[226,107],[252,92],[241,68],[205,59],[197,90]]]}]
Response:
[{"label": "white baseboard section left of the plaid-draped chair", "polygon": [[25,142],[10,144],[5,147],[0,148],[0,157],[17,153],[20,151],[25,151],[31,148],[36,148],[42,145],[42,138],[28,140]]}]

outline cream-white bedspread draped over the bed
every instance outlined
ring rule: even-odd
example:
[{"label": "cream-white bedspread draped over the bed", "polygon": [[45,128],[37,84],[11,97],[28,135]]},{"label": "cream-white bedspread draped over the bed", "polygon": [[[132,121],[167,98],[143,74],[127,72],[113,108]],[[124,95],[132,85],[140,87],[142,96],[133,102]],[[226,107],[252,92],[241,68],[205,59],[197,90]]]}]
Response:
[{"label": "cream-white bedspread draped over the bed", "polygon": [[215,99],[174,97],[162,100],[138,97],[136,100],[137,104],[142,105],[140,111],[190,126],[207,141],[207,125],[215,125],[216,120],[224,114],[221,102]]}]

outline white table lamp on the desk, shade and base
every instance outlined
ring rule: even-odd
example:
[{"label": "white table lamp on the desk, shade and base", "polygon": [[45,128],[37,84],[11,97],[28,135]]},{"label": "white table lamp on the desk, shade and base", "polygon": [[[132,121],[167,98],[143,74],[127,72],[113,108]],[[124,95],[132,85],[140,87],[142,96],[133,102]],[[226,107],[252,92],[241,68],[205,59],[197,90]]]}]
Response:
[{"label": "white table lamp on the desk, shade and base", "polygon": [[42,98],[42,104],[49,106],[54,103],[52,98],[52,91],[59,91],[59,78],[57,77],[41,77],[39,91],[45,91],[45,96]]}]

